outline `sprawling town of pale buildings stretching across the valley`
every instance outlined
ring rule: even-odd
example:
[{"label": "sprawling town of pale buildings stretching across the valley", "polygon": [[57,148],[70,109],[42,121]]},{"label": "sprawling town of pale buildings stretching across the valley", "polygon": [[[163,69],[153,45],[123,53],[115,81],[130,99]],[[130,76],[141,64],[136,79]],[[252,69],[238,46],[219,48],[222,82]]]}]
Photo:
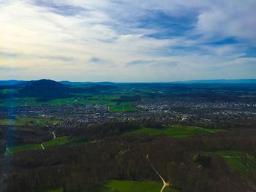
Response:
[{"label": "sprawling town of pale buildings stretching across the valley", "polygon": [[133,112],[111,112],[100,104],[67,104],[61,106],[26,106],[14,110],[0,108],[0,118],[45,118],[58,120],[49,126],[71,127],[89,123],[127,122],[145,120],[211,120],[256,119],[256,104],[243,102],[141,101]]}]

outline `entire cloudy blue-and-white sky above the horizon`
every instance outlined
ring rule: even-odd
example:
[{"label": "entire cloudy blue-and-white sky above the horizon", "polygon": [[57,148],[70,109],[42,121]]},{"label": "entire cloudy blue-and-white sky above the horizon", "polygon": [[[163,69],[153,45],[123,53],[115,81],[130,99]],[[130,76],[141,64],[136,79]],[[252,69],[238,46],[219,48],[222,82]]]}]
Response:
[{"label": "entire cloudy blue-and-white sky above the horizon", "polygon": [[256,78],[256,0],[0,0],[0,80]]}]

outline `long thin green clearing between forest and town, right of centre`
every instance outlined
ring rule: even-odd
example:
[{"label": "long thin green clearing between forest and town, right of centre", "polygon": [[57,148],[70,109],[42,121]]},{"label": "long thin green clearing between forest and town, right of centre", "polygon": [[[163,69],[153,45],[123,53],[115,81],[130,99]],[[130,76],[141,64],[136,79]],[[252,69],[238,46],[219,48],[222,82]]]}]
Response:
[{"label": "long thin green clearing between forest and town, right of centre", "polygon": [[166,135],[170,137],[189,137],[200,136],[204,134],[217,133],[222,130],[200,128],[196,126],[165,126],[164,128],[146,128],[142,127],[134,131],[129,131],[127,134],[150,134],[150,135]]}]

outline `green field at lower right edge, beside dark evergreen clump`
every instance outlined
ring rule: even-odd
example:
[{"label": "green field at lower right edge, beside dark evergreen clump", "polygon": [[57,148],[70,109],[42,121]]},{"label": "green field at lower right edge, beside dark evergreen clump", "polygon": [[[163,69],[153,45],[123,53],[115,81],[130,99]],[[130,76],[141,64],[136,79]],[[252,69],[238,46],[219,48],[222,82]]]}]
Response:
[{"label": "green field at lower right edge, beside dark evergreen clump", "polygon": [[237,172],[242,177],[256,174],[256,158],[248,153],[232,150],[217,150],[204,153],[206,155],[219,155],[225,159],[232,172]]}]

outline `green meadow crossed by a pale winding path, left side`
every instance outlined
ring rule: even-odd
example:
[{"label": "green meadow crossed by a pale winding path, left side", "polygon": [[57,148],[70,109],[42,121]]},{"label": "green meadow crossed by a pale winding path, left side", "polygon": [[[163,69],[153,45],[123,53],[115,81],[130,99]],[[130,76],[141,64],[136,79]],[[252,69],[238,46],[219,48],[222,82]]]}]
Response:
[{"label": "green meadow crossed by a pale winding path, left side", "polygon": [[[51,139],[48,142],[43,142],[42,145],[45,148],[54,147],[56,145],[65,145],[69,142],[66,136],[56,137],[56,139]],[[14,147],[8,147],[8,150],[4,155],[10,155],[12,153],[17,153],[25,150],[42,150],[41,144],[27,144],[27,145],[18,145]]]}]

